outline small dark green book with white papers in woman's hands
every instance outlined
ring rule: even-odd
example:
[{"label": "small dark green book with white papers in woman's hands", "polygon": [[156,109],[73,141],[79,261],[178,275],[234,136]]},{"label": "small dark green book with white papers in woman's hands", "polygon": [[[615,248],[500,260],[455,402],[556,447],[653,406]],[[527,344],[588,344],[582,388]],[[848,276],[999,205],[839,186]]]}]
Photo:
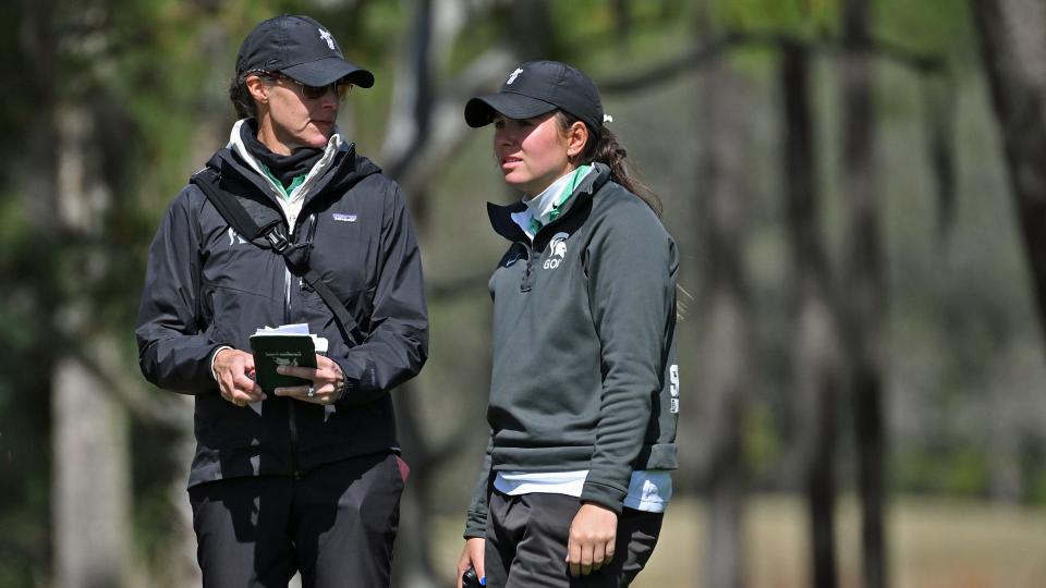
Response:
[{"label": "small dark green book with white papers in woman's hands", "polygon": [[283,376],[277,366],[316,367],[316,354],[327,353],[327,340],[308,332],[308,324],[265,327],[251,335],[255,381],[266,392],[287,385],[307,385],[312,380]]}]

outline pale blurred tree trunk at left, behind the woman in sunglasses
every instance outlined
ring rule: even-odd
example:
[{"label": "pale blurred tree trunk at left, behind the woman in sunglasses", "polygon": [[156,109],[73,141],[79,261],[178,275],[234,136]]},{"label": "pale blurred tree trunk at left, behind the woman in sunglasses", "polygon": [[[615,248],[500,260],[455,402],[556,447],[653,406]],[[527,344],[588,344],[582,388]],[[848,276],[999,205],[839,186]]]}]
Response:
[{"label": "pale blurred tree trunk at left, behind the woman in sunglasses", "polygon": [[[52,231],[97,236],[111,194],[98,180],[98,161],[88,156],[95,117],[85,105],[60,109],[59,192]],[[66,258],[60,260],[63,266],[105,267],[99,257],[104,254],[97,249],[74,247],[62,255]],[[54,319],[72,348],[54,367],[51,393],[56,585],[119,587],[126,585],[130,563],[127,415],[119,399],[107,392],[105,382],[75,353],[76,347],[90,348],[100,333],[84,328],[93,313],[89,295],[77,284],[65,285]]]}]

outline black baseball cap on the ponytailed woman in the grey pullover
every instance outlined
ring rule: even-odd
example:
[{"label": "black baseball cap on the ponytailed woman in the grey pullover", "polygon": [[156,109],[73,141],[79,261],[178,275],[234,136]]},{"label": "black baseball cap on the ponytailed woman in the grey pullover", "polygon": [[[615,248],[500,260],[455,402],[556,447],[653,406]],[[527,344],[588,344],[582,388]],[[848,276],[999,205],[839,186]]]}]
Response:
[{"label": "black baseball cap on the ponytailed woman in the grey pullover", "polygon": [[479,127],[495,113],[530,119],[560,109],[584,121],[593,131],[603,127],[599,90],[576,68],[559,61],[528,61],[514,69],[497,94],[477,96],[465,105],[465,122]]}]

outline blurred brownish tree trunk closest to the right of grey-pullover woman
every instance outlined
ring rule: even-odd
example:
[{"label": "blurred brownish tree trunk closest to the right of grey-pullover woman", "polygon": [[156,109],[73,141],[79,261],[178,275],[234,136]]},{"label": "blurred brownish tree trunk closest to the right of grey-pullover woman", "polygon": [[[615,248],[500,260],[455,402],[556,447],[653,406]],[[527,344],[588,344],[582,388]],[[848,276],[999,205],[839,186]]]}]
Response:
[{"label": "blurred brownish tree trunk closest to the right of grey-pullover woman", "polygon": [[[744,463],[741,412],[751,366],[751,304],[744,271],[746,203],[741,139],[742,83],[722,58],[708,64],[701,87],[704,154],[698,177],[698,255],[704,277],[700,320],[701,404],[708,449],[708,540],[702,586],[738,588],[742,574]],[[695,399],[695,402],[698,402]]]}]

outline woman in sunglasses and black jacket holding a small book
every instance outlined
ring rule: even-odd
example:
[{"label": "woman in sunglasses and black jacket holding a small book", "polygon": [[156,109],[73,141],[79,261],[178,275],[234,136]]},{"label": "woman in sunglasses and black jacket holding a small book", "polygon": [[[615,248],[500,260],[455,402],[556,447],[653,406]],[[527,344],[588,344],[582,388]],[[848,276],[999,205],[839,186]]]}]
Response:
[{"label": "woman in sunglasses and black jacket holding a small book", "polygon": [[[403,489],[389,390],[424,364],[427,318],[403,196],[336,124],[350,88],[373,84],[316,21],[260,23],[230,91],[242,119],[200,172],[252,217],[277,219],[270,234],[319,282],[245,240],[195,179],[149,250],[141,364],[195,396],[188,493],[204,586],[287,586],[296,571],[304,586],[389,586]],[[279,368],[302,385],[263,391],[248,338],[281,323],[307,323],[329,350],[315,368]]]}]

